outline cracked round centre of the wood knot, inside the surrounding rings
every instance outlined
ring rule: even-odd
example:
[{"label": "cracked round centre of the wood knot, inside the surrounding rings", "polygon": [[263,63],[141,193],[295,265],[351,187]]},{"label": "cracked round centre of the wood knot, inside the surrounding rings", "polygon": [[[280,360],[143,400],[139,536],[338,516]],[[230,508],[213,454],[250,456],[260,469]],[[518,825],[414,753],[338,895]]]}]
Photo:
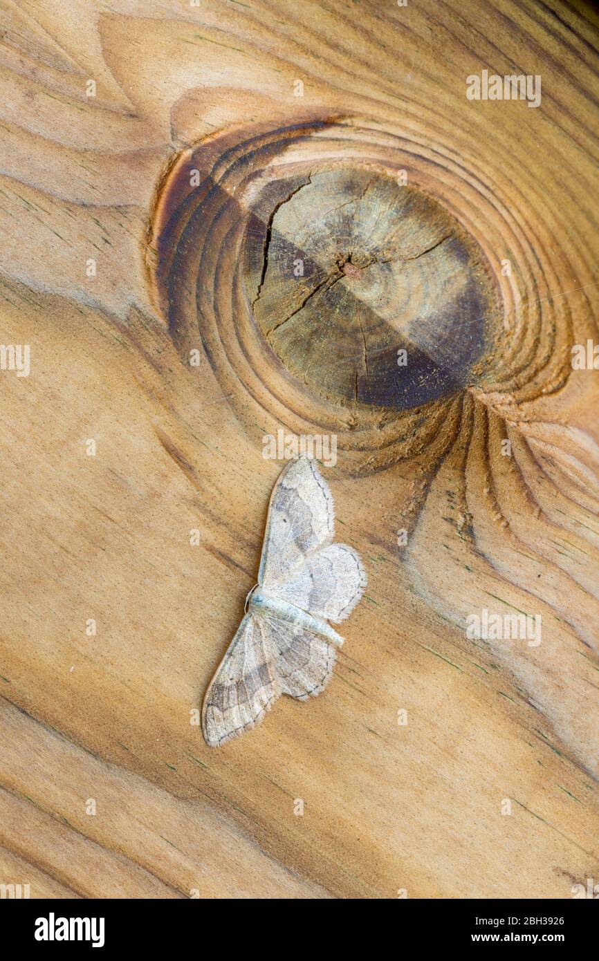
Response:
[{"label": "cracked round centre of the wood knot, inside the surrounding rings", "polygon": [[312,393],[408,409],[476,379],[496,326],[482,252],[437,202],[385,173],[290,180],[247,242],[265,339]]}]

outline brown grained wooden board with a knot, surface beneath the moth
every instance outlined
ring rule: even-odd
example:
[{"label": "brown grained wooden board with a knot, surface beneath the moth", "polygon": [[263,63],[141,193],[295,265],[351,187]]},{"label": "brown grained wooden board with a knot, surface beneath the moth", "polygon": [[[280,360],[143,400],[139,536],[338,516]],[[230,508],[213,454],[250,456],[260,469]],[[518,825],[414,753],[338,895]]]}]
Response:
[{"label": "brown grained wooden board with a knot, surface beneath the moth", "polygon": [[[596,13],[0,22],[0,339],[31,348],[0,371],[0,883],[571,897],[599,876],[599,387],[571,365],[599,336]],[[467,100],[483,69],[539,75],[540,106]],[[337,435],[367,597],[318,699],[210,751],[190,722],[279,429]],[[468,639],[484,608],[539,614],[541,643]]]}]

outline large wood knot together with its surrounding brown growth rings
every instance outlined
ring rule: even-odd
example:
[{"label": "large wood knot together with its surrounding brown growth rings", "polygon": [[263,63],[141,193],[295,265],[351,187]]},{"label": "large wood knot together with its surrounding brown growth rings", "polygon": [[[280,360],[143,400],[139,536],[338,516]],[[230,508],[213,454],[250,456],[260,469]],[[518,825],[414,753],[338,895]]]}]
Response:
[{"label": "large wood knot together with its surrounding brown growth rings", "polygon": [[[518,249],[512,234],[491,267],[462,226],[487,235],[472,215],[481,195],[402,143],[358,120],[253,124],[164,172],[151,289],[182,362],[200,358],[198,383],[217,382],[259,446],[284,426],[335,434],[352,470],[424,463],[470,399],[538,392],[526,358],[541,328],[556,330],[551,298],[543,317],[513,308],[516,288],[497,269]],[[538,354],[543,390],[547,357],[552,389],[562,382],[566,339]]]}]

